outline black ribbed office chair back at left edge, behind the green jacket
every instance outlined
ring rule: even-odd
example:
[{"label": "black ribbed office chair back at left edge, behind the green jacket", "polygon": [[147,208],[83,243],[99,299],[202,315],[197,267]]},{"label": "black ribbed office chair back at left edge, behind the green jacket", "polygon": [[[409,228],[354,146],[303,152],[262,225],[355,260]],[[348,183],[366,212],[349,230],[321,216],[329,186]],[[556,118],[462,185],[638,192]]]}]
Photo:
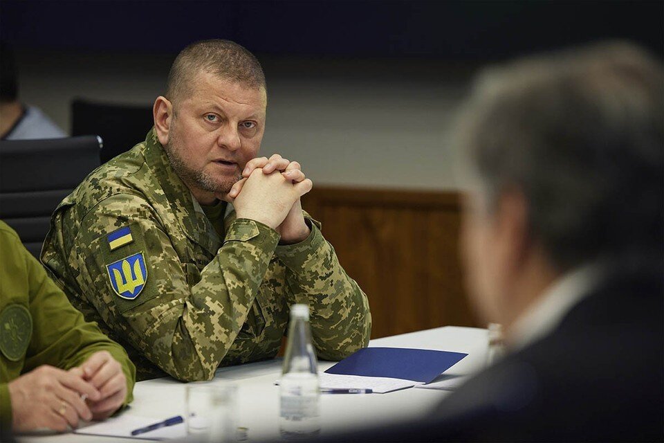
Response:
[{"label": "black ribbed office chair back at left edge, behind the green jacket", "polygon": [[39,258],[55,207],[100,165],[98,136],[0,141],[0,219]]}]

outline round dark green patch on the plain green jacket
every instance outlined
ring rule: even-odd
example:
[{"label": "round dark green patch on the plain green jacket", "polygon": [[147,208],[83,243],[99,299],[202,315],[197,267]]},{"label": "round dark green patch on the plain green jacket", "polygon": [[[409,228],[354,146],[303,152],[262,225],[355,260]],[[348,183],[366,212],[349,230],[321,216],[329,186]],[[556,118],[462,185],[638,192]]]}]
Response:
[{"label": "round dark green patch on the plain green jacket", "polygon": [[9,305],[0,314],[0,351],[11,361],[19,361],[33,336],[33,318],[24,305]]}]

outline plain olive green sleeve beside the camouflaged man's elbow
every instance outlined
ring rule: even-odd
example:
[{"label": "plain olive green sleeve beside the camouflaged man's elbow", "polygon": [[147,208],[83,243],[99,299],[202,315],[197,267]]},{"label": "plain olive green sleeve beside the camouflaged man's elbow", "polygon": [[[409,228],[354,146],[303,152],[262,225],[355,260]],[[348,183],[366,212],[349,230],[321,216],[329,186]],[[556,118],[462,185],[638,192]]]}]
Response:
[{"label": "plain olive green sleeve beside the camouflaged man's elbow", "polygon": [[67,300],[64,292],[48,278],[46,271],[25,248],[16,248],[24,255],[30,288],[30,316],[33,318],[33,336],[26,352],[24,372],[40,365],[52,365],[68,370],[81,365],[98,351],[108,351],[120,365],[127,379],[126,403],[133,398],[131,392],[136,380],[136,368],[127,352],[102,334],[95,323],[84,320]]}]

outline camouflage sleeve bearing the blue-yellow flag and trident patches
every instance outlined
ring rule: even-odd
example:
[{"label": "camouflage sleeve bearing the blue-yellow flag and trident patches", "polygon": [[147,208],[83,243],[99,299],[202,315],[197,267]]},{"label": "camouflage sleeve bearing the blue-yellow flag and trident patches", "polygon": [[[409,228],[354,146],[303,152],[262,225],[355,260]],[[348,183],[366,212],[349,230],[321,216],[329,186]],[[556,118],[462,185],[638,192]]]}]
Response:
[{"label": "camouflage sleeve bearing the blue-yellow flag and trident patches", "polygon": [[[176,379],[210,380],[246,320],[279,235],[237,219],[199,274],[195,264],[179,259],[176,248],[187,242],[169,238],[163,223],[177,221],[160,220],[142,197],[113,195],[100,202],[75,240],[78,284],[113,332],[152,363]],[[131,230],[131,242],[111,251],[107,234],[123,227]],[[140,261],[146,274],[142,289],[129,298],[111,282],[112,264],[124,266],[125,260],[132,262],[125,275],[142,273],[135,268]]]}]

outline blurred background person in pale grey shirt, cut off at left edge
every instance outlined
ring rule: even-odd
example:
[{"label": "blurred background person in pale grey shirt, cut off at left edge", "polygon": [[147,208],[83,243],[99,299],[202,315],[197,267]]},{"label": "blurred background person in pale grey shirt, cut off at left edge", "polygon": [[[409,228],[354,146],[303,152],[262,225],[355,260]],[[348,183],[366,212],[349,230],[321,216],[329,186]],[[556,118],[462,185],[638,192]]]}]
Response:
[{"label": "blurred background person in pale grey shirt, cut off at left edge", "polygon": [[0,46],[0,138],[26,140],[66,137],[64,131],[41,109],[21,103],[14,53],[6,43]]}]

